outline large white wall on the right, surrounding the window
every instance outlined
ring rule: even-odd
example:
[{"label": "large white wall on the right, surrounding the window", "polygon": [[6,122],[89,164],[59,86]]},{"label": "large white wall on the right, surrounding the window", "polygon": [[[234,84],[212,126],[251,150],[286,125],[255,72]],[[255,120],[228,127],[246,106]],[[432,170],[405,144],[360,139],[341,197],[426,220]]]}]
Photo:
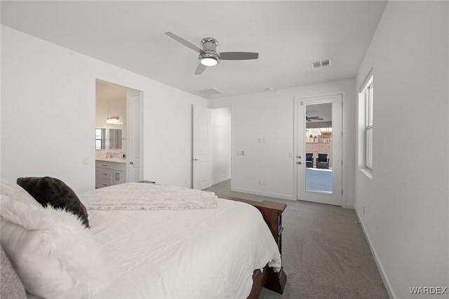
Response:
[{"label": "large white wall on the right, surrounding the window", "polygon": [[448,20],[448,1],[389,1],[356,78],[373,69],[373,177],[356,169],[355,207],[393,298],[449,286]]}]

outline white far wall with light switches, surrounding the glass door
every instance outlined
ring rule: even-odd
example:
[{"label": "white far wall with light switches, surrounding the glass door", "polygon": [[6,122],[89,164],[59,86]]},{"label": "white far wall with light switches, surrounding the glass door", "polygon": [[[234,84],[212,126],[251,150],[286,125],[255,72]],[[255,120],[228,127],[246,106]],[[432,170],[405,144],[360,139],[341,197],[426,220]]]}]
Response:
[{"label": "white far wall with light switches, surrounding the glass door", "polygon": [[[295,199],[294,98],[344,92],[344,206],[354,204],[356,124],[355,80],[264,91],[209,100],[209,107],[233,107],[232,190]],[[267,143],[259,143],[266,138]],[[245,155],[237,155],[244,151]],[[267,185],[259,185],[265,180]]]}]

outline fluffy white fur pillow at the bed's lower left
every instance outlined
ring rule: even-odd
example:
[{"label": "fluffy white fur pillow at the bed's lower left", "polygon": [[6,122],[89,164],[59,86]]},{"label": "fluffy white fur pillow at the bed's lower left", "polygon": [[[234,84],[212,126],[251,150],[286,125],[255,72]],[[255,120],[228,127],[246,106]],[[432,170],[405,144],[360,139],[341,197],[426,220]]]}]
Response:
[{"label": "fluffy white fur pillow at the bed's lower left", "polygon": [[86,298],[108,281],[102,248],[76,215],[43,208],[19,185],[1,186],[1,246],[30,293]]}]

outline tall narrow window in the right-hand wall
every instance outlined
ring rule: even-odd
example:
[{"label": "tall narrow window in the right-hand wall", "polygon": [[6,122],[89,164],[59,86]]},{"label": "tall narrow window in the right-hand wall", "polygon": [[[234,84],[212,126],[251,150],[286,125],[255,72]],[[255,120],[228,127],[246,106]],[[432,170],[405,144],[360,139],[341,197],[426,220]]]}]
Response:
[{"label": "tall narrow window in the right-hand wall", "polygon": [[365,166],[373,169],[373,76],[362,91],[365,95]]}]

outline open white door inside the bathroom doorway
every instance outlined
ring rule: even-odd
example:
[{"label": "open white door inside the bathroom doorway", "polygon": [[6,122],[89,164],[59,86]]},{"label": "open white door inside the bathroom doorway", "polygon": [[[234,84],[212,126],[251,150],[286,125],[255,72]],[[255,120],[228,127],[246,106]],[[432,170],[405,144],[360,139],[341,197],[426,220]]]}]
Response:
[{"label": "open white door inside the bathroom doorway", "polygon": [[126,123],[128,135],[126,142],[126,182],[138,182],[142,180],[142,140],[140,107],[142,104],[142,93],[128,91],[126,100]]}]

